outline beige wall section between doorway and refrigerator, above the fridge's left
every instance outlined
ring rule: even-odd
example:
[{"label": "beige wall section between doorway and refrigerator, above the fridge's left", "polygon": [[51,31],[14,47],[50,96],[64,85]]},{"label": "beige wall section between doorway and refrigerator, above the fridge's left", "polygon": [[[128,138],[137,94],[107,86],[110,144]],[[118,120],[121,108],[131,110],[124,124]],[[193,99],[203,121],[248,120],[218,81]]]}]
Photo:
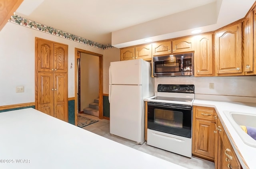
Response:
[{"label": "beige wall section between doorway and refrigerator, above the fridge's left", "polygon": [[108,94],[110,62],[120,61],[120,49],[112,48],[104,50],[103,56],[103,93]]}]

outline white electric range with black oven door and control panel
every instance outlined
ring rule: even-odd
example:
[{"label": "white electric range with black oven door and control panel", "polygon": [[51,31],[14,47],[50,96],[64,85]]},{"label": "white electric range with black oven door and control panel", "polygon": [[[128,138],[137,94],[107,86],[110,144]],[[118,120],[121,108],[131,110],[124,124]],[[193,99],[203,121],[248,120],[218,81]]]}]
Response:
[{"label": "white electric range with black oven door and control panel", "polygon": [[192,157],[194,85],[158,85],[148,102],[147,144]]}]

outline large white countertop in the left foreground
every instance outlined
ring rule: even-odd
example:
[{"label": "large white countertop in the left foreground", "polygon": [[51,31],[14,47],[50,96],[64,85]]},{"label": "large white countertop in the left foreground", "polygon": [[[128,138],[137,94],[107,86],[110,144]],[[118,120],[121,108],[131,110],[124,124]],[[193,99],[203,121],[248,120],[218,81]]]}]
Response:
[{"label": "large white countertop in the left foreground", "polygon": [[1,169],[185,169],[33,108],[0,113],[0,159]]}]

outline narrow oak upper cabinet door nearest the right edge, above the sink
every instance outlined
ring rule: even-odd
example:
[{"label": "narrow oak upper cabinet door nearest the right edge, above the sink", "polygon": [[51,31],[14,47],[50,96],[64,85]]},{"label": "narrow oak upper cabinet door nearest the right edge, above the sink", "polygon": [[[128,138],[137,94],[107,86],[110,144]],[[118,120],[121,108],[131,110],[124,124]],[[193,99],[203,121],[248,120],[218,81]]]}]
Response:
[{"label": "narrow oak upper cabinet door nearest the right edge, above the sink", "polygon": [[244,72],[253,71],[253,16],[250,12],[244,20]]}]

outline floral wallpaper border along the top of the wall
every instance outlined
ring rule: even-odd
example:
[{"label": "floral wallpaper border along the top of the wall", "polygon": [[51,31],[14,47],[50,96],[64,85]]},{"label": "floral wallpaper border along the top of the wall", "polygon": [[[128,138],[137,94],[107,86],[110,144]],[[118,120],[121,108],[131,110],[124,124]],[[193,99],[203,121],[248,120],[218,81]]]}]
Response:
[{"label": "floral wallpaper border along the top of the wall", "polygon": [[102,45],[100,43],[96,43],[94,41],[84,39],[83,37],[79,37],[79,36],[73,35],[71,33],[67,33],[67,32],[64,32],[62,30],[52,28],[50,26],[46,26],[46,25],[34,22],[32,20],[28,20],[28,19],[23,18],[23,17],[18,16],[18,15],[13,15],[10,18],[9,22],[14,22],[16,24],[26,26],[28,28],[36,29],[36,30],[39,30],[39,31],[44,31],[44,32],[50,33],[52,35],[56,35],[56,36],[59,36],[59,37],[64,37],[66,39],[76,41],[76,42],[79,42],[79,43],[83,43],[85,45],[90,45],[90,46],[93,46],[93,47],[97,47],[97,48],[100,48],[100,49],[114,48],[111,44]]}]

